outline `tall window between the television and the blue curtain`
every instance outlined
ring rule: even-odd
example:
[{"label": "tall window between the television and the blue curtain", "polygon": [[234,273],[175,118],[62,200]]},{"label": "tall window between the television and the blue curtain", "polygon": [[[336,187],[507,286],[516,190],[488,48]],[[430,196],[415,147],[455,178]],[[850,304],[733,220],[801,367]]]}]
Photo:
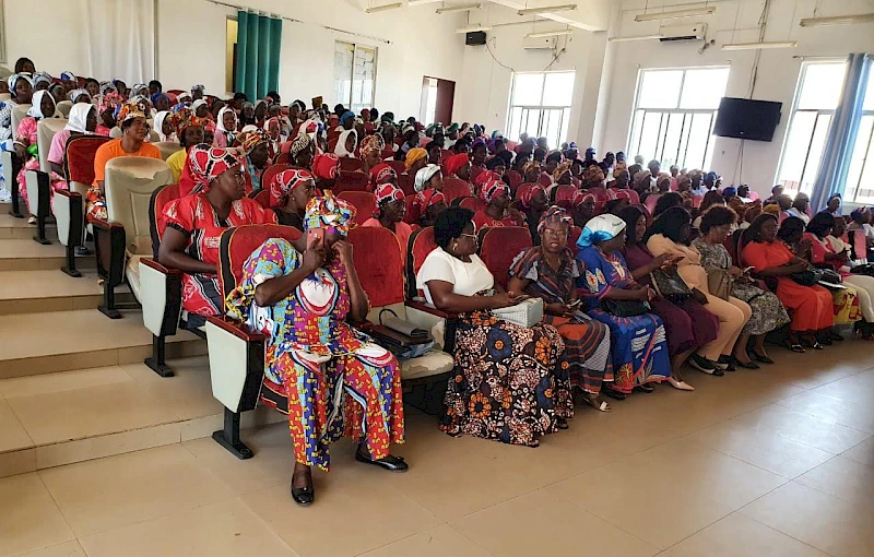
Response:
[{"label": "tall window between the television and the blue curtain", "polygon": [[795,103],[777,173],[777,182],[790,195],[813,191],[846,72],[847,64],[842,61],[804,62],[801,66]]}]

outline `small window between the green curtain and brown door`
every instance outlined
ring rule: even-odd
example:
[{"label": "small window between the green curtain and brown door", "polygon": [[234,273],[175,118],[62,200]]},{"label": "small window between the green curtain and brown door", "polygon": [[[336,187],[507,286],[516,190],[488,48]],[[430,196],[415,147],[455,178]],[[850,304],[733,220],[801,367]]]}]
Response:
[{"label": "small window between the green curtain and brown door", "polygon": [[353,112],[374,106],[376,48],[334,43],[334,103]]}]

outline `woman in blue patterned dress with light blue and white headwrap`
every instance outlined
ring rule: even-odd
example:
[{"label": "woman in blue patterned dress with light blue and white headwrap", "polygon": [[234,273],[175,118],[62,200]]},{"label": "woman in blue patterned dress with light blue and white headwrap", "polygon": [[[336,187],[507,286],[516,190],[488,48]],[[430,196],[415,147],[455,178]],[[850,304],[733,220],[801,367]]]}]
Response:
[{"label": "woman in blue patterned dress with light blue and white headwrap", "polygon": [[[621,252],[625,221],[610,214],[591,218],[577,246],[577,259],[582,262],[577,287],[589,316],[610,328],[611,389],[615,391],[611,395],[624,399],[635,387],[671,377],[664,325],[647,306],[656,293],[634,280]],[[623,306],[628,306],[628,311],[618,309]]]}]

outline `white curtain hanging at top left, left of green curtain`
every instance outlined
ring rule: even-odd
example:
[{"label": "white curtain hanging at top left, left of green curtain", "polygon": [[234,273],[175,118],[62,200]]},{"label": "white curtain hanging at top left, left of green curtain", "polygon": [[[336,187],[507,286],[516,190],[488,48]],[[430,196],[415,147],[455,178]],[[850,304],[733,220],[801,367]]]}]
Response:
[{"label": "white curtain hanging at top left, left of green curtain", "polygon": [[155,71],[156,0],[81,0],[85,3],[88,73],[147,83]]}]

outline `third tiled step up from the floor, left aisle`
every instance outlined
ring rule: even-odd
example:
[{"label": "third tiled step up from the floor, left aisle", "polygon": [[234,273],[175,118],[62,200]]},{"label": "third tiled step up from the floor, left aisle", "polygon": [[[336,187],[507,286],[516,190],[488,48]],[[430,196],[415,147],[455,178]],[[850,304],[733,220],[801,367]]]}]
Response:
[{"label": "third tiled step up from the floor, left aisle", "polygon": [[[116,288],[116,300],[132,303],[135,298],[125,285]],[[59,270],[5,271],[0,273],[0,316],[96,309],[103,304],[103,286],[97,273],[83,273],[73,278]]]}]

